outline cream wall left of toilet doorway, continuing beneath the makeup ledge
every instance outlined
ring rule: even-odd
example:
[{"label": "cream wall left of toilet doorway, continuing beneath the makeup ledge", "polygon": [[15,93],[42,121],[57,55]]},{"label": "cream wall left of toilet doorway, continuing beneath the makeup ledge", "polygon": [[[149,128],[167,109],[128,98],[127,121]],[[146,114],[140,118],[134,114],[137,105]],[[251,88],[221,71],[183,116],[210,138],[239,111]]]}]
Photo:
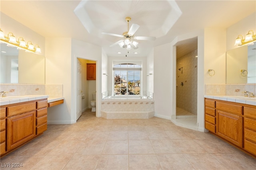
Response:
[{"label": "cream wall left of toilet doorway, continuing beneath the makeup ledge", "polygon": [[48,108],[49,124],[70,124],[76,122],[72,94],[71,38],[46,38],[46,84],[63,84],[64,104]]}]

